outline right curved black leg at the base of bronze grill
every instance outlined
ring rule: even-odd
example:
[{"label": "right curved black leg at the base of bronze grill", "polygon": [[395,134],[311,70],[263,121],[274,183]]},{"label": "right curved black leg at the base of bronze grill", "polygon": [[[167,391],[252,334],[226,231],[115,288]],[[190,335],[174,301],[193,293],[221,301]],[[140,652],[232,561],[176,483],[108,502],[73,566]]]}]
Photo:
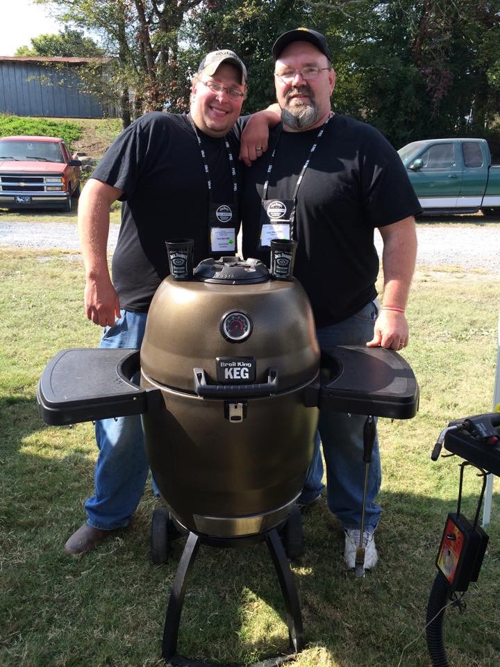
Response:
[{"label": "right curved black leg at the base of bronze grill", "polygon": [[281,543],[276,528],[267,533],[266,543],[274,563],[276,575],[278,575],[283,600],[285,600],[290,650],[291,652],[298,653],[303,649],[303,627],[299,596],[297,595],[297,588],[295,588],[285,548],[283,547],[283,543]]}]

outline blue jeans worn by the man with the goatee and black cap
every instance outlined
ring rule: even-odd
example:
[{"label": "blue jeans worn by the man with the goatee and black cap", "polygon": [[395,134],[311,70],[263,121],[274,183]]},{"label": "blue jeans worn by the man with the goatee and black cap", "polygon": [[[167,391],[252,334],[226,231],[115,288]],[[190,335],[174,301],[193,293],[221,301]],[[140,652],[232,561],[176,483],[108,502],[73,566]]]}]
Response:
[{"label": "blue jeans worn by the man with the goatee and black cap", "polygon": [[[368,340],[372,340],[377,314],[376,304],[370,302],[351,318],[317,329],[319,346],[324,352],[328,352],[335,345],[365,345]],[[326,463],[328,509],[337,516],[344,528],[359,528],[361,525],[365,483],[365,420],[363,415],[349,416],[326,410],[320,413],[315,453],[299,497],[299,502],[311,502],[324,488],[322,456],[319,450],[321,440]],[[369,467],[365,507],[365,529],[370,532],[376,529],[381,514],[381,508],[375,502],[380,486],[381,463],[376,437]]]}]

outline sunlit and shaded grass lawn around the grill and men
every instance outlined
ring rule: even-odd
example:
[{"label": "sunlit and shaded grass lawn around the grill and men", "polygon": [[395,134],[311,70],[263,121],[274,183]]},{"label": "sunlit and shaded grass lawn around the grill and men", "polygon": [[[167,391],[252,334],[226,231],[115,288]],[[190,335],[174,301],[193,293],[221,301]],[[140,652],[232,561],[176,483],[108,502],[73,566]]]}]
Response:
[{"label": "sunlit and shaded grass lawn around the grill and men", "polygon": [[[0,216],[1,220],[1,216]],[[149,561],[149,484],[133,522],[91,554],[63,544],[84,520],[96,458],[92,425],[46,427],[35,401],[47,361],[93,347],[83,314],[83,271],[73,254],[0,250],[0,666],[160,666],[169,590],[183,540],[165,566]],[[498,277],[419,270],[405,350],[421,390],[417,417],[380,420],[383,516],[378,566],[344,570],[343,536],[322,498],[304,516],[306,552],[292,564],[306,649],[297,667],[426,667],[426,604],[447,513],[456,510],[458,459],[433,463],[451,419],[490,411],[497,354]],[[462,511],[479,481],[467,469]],[[497,489],[496,489],[497,490]],[[449,609],[453,667],[500,664],[500,503],[467,612]],[[178,649],[190,657],[252,662],[284,650],[281,593],[264,545],[201,547],[185,600]]]}]

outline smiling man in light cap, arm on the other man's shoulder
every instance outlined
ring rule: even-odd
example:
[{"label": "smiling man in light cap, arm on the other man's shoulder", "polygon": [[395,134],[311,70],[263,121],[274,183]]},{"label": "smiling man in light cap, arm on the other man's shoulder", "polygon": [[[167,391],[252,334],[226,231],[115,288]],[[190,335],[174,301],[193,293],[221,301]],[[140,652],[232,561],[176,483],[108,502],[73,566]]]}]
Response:
[{"label": "smiling man in light cap, arm on the other man's shoulder", "polygon": [[[208,53],[194,76],[190,112],[142,116],[106,151],[83,188],[78,229],[85,311],[104,327],[101,347],[140,347],[149,304],[169,272],[165,240],[194,239],[195,263],[236,252],[241,184],[236,122],[246,93],[247,69],[240,58],[228,50]],[[112,280],[106,246],[109,209],[117,199],[123,202],[122,225]],[[101,420],[95,430],[95,491],[85,501],[88,520],[65,545],[68,554],[90,551],[128,525],[147,478],[140,417]]]}]

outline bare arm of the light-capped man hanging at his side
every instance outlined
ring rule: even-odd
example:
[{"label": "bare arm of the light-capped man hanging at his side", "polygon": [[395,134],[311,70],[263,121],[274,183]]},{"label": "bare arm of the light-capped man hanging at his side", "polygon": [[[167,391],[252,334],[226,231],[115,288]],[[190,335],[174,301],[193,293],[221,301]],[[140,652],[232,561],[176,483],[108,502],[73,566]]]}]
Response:
[{"label": "bare arm of the light-capped man hanging at his side", "polygon": [[120,317],[118,295],[108,269],[110,206],[123,191],[97,179],[85,183],[78,201],[78,235],[85,265],[85,313],[101,327]]}]

